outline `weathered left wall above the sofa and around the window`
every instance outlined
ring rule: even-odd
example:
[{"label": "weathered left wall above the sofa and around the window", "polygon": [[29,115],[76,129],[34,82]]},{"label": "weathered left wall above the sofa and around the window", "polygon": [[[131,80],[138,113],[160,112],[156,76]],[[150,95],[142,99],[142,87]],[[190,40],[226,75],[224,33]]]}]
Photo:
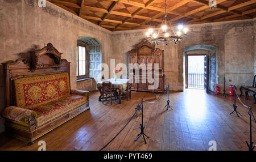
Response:
[{"label": "weathered left wall above the sofa and around the window", "polygon": [[[51,42],[71,62],[71,88],[76,88],[76,46],[80,37],[94,37],[102,45],[102,62],[112,54],[111,32],[52,3],[38,7],[35,0],[0,0],[0,60],[18,59],[36,46]],[[3,73],[0,74],[0,112],[4,108]],[[87,84],[86,84],[87,85]],[[4,130],[0,117],[0,132]]]}]

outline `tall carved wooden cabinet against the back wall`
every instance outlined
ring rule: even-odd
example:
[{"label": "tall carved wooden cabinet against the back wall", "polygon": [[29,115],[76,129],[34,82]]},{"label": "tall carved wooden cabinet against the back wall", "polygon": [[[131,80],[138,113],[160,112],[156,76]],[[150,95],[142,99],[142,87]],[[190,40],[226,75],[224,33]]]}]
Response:
[{"label": "tall carved wooden cabinet against the back wall", "polygon": [[[145,74],[143,64],[148,68],[149,63],[152,69],[147,69]],[[155,63],[158,63],[157,76],[154,75]],[[138,70],[137,73],[135,73],[136,70]],[[147,76],[148,74],[151,75]],[[147,40],[139,42],[136,49],[129,51],[129,75],[133,76],[132,90],[134,91],[164,92],[163,50],[155,49],[155,45]],[[156,80],[158,85],[155,83]]]}]

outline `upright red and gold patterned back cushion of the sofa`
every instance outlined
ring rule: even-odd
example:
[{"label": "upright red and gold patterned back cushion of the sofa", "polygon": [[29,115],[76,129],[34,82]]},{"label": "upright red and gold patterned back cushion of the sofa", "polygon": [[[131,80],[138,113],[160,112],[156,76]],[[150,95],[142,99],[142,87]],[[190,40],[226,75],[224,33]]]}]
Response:
[{"label": "upright red and gold patterned back cushion of the sofa", "polygon": [[20,108],[36,108],[70,94],[66,72],[14,78],[15,101]]}]

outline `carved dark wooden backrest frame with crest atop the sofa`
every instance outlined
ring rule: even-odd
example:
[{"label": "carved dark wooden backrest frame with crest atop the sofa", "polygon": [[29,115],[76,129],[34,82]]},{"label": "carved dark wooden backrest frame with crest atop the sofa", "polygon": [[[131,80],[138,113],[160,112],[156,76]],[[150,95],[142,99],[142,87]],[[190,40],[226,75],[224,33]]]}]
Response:
[{"label": "carved dark wooden backrest frame with crest atop the sofa", "polygon": [[66,71],[70,80],[70,62],[61,59],[62,53],[59,53],[51,43],[40,50],[31,50],[29,53],[30,62],[27,62],[25,58],[20,58],[16,61],[2,63],[5,70],[5,106],[15,105],[12,78]]}]

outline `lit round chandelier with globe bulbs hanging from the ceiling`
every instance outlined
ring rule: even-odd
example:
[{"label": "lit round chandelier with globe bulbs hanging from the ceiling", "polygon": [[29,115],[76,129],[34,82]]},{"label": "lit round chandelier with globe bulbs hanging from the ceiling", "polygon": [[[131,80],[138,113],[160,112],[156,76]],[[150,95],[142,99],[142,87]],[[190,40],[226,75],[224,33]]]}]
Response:
[{"label": "lit round chandelier with globe bulbs hanging from the ceiling", "polygon": [[[165,5],[166,8],[166,14],[164,15],[162,24],[158,30],[158,32],[154,32],[152,28],[148,29],[148,32],[146,33],[147,41],[151,42],[151,44],[158,45],[159,43],[168,44],[168,42],[180,42],[183,37],[187,39],[187,32],[188,28],[184,28],[183,24],[177,25],[176,32],[174,31],[174,28],[172,28],[172,25],[167,17],[167,3]],[[169,23],[170,28],[168,27],[167,23]],[[160,32],[162,29],[162,32]],[[174,36],[170,36],[170,32],[174,33]]]}]

